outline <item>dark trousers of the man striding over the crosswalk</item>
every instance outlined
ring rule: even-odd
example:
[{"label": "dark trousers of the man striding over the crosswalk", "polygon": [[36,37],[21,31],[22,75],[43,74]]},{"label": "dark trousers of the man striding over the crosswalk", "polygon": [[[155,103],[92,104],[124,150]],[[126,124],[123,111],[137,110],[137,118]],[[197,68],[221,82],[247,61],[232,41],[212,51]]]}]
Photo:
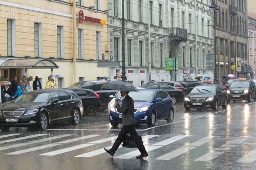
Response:
[{"label": "dark trousers of the man striding over the crosswalk", "polygon": [[142,140],[140,139],[138,133],[136,132],[134,125],[129,125],[129,126],[123,126],[115,143],[113,144],[111,150],[115,153],[116,150],[118,149],[119,145],[122,143],[122,141],[125,138],[125,135],[129,133],[131,137],[135,140],[136,145],[138,146],[138,149],[140,153],[144,154],[146,153],[146,149],[143,145]]}]

